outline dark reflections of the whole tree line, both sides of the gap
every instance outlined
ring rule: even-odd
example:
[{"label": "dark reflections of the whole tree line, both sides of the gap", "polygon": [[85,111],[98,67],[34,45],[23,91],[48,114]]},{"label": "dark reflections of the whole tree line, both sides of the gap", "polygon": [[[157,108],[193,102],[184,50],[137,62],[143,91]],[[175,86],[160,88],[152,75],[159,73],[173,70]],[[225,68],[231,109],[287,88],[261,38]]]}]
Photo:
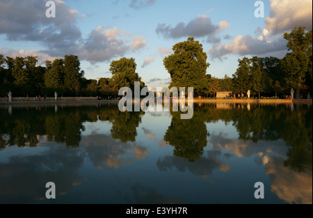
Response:
[{"label": "dark reflections of the whole tree line, both sides of the gap", "polygon": [[[287,104],[229,104],[218,109],[216,104],[194,104],[193,118],[182,120],[180,111],[170,112],[172,121],[165,141],[175,146],[174,155],[194,161],[201,157],[207,146],[205,123],[223,120],[233,123],[239,139],[259,140],[283,139],[289,146],[289,157],[284,166],[295,171],[312,169],[312,106],[295,104],[291,111]],[[89,105],[80,107],[13,107],[8,115],[0,110],[0,148],[5,146],[36,146],[40,136],[47,135],[48,141],[79,146],[83,122],[106,120],[112,123],[111,137],[122,142],[136,140],[136,128],[141,123],[141,112],[120,112],[116,104]]]}]

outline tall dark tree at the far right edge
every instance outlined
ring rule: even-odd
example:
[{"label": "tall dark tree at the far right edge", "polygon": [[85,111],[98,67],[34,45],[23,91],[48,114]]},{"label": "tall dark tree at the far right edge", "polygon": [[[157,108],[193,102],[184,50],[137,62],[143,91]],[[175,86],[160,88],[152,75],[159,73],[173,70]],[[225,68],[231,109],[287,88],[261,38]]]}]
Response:
[{"label": "tall dark tree at the far right edge", "polygon": [[[282,59],[287,85],[296,88],[296,98],[300,98],[300,88],[305,82],[305,75],[310,68],[312,56],[312,29],[305,32],[304,26],[296,27],[291,33],[284,33],[288,40],[288,51],[292,51]],[[311,63],[312,64],[312,63]]]}]

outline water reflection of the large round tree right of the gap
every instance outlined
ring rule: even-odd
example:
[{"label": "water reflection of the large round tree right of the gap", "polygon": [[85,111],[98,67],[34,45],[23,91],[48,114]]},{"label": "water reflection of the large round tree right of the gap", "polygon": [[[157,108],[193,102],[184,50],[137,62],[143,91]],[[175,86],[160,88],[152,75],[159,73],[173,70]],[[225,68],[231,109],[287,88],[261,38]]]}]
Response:
[{"label": "water reflection of the large round tree right of the gap", "polygon": [[193,117],[186,120],[181,119],[180,111],[170,112],[172,121],[164,135],[164,141],[175,147],[173,155],[184,157],[190,162],[199,159],[204,147],[207,146],[208,133],[207,126],[204,124],[205,113],[196,108]]}]

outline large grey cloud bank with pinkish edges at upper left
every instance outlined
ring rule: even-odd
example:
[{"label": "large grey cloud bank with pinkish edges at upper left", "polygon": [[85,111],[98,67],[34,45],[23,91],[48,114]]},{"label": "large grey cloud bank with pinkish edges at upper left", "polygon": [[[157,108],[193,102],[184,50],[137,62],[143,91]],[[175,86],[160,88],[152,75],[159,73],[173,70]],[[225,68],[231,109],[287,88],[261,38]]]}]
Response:
[{"label": "large grey cloud bank with pinkish edges at upper left", "polygon": [[[0,34],[10,41],[31,41],[42,46],[40,51],[6,50],[10,56],[35,54],[35,56],[63,57],[76,54],[79,59],[90,63],[110,61],[116,56],[144,47],[147,40],[143,36],[131,38],[125,29],[108,29],[98,26],[87,37],[82,36],[77,19],[86,17],[63,1],[57,4],[56,17],[47,19],[42,0],[19,1],[0,0]],[[42,13],[42,11],[44,13]],[[17,16],[18,15],[18,16]],[[24,51],[24,52],[23,52]],[[4,52],[3,52],[4,53]]]}]

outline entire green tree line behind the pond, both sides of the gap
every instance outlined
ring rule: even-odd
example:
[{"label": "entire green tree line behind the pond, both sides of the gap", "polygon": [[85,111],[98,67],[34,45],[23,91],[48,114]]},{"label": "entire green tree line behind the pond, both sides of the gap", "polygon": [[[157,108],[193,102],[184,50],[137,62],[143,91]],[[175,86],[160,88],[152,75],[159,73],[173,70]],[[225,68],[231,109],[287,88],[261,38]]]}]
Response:
[{"label": "entire green tree line behind the pond, both sides of the gap", "polygon": [[[290,95],[291,88],[296,98],[306,98],[312,93],[312,30],[304,26],[284,33],[288,53],[283,59],[273,56],[239,59],[232,77],[223,79],[207,74],[207,54],[194,38],[188,38],[172,47],[173,54],[163,59],[170,74],[171,87],[193,87],[196,96],[214,96],[218,91],[247,93],[252,97]],[[8,91],[15,96],[53,96],[56,91],[65,96],[112,96],[122,87],[134,91],[134,81],[141,81],[136,72],[134,58],[121,58],[110,64],[111,78],[86,79],[80,68],[78,56],[65,55],[64,59],[45,61],[45,67],[37,66],[34,56],[15,59],[0,54],[0,95]],[[141,81],[141,88],[145,83]]]}]

